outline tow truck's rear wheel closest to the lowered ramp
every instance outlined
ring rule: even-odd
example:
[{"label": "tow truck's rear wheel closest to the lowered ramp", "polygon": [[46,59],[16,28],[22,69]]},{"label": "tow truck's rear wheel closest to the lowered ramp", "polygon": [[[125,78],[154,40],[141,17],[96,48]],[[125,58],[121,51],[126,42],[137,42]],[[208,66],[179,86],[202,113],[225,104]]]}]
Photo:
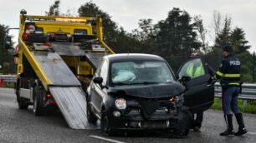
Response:
[{"label": "tow truck's rear wheel closest to the lowered ramp", "polygon": [[43,95],[39,91],[38,86],[33,87],[33,114],[35,116],[43,116],[44,109],[43,109]]}]

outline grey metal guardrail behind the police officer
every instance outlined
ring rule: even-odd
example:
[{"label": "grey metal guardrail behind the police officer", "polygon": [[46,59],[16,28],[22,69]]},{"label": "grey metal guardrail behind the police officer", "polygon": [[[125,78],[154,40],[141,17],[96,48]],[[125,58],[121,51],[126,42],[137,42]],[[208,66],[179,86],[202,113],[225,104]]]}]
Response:
[{"label": "grey metal guardrail behind the police officer", "polygon": [[[214,85],[215,88],[215,96],[222,96],[222,87],[217,82]],[[239,99],[243,100],[243,106],[247,105],[247,100],[256,100],[256,84],[251,83],[243,83],[242,85],[242,93],[238,96]]]}]

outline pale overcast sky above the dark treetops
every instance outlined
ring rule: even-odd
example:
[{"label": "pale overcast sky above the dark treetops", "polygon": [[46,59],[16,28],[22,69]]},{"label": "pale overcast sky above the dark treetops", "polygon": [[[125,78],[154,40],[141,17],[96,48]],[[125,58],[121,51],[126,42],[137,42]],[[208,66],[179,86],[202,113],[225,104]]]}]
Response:
[{"label": "pale overcast sky above the dark treetops", "polygon": [[[88,0],[60,0],[60,11],[68,9],[77,14],[78,8]],[[151,18],[158,22],[167,17],[173,7],[186,10],[192,17],[201,15],[204,25],[211,27],[212,13],[221,12],[232,17],[232,27],[242,27],[246,39],[256,52],[256,1],[255,0],[92,0],[112,20],[128,32],[138,27],[139,19]],[[44,15],[54,0],[0,0],[0,24],[18,27],[19,11],[26,9],[28,15]],[[212,40],[212,39],[208,39]]]}]

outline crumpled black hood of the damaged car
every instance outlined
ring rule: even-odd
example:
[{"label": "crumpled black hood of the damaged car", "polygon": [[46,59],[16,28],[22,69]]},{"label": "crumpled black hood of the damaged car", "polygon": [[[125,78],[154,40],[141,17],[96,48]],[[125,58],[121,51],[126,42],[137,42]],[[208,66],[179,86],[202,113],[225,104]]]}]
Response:
[{"label": "crumpled black hood of the damaged car", "polygon": [[136,96],[142,98],[161,98],[168,96],[179,96],[185,91],[182,84],[172,81],[161,84],[148,84],[148,85],[125,85],[109,87],[109,93],[124,93],[126,96]]}]

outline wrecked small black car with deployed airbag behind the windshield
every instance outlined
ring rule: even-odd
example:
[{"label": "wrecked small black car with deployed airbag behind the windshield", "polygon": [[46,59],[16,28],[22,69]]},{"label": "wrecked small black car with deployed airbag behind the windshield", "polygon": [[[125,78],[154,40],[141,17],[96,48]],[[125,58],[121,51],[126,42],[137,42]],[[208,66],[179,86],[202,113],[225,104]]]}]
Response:
[{"label": "wrecked small black car with deployed airbag behind the windshield", "polygon": [[[108,135],[127,130],[166,130],[187,136],[192,125],[190,107],[202,109],[206,102],[202,106],[184,105],[184,94],[189,90],[181,83],[192,84],[189,83],[191,78],[182,75],[184,70],[177,81],[172,68],[161,57],[149,54],[105,56],[86,91],[88,121],[100,120],[101,130]],[[203,91],[202,87],[199,91]],[[197,91],[190,92],[193,96]]]}]

